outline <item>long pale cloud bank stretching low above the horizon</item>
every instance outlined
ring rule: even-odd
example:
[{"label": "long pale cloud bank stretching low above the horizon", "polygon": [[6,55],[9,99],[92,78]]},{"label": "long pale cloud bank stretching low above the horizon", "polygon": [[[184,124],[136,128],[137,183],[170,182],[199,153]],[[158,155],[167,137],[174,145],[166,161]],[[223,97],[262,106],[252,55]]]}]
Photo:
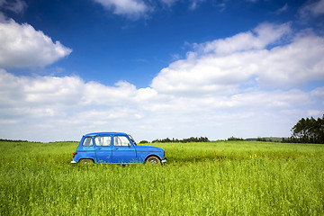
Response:
[{"label": "long pale cloud bank stretching low above the horizon", "polygon": [[[137,139],[226,139],[243,136],[242,131],[244,136],[269,135],[258,128],[261,121],[266,121],[265,131],[275,127],[270,135],[288,136],[292,127],[289,123],[296,116],[286,113],[311,107],[320,90],[249,89],[235,94],[184,97],[162,94],[152,87],[138,89],[127,82],[107,86],[85,83],[76,76],[14,76],[1,69],[0,135],[54,141],[79,139],[89,131],[122,130]],[[285,113],[280,113],[283,110]],[[284,124],[276,129],[278,121]],[[15,131],[20,131],[19,135]]]}]

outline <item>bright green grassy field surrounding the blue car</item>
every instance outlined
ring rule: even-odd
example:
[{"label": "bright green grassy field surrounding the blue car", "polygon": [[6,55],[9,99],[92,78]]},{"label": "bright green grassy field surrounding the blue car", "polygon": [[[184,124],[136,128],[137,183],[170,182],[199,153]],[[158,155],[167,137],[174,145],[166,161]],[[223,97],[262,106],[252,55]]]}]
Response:
[{"label": "bright green grassy field surrounding the blue car", "polygon": [[0,142],[0,215],[324,214],[324,145],[154,145],[165,166],[71,165],[76,142]]}]

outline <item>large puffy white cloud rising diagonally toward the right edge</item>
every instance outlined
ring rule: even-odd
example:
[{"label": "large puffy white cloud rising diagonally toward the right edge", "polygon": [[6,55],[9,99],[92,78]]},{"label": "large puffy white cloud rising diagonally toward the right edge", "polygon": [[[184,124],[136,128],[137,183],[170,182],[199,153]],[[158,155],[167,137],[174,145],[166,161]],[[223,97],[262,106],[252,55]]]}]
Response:
[{"label": "large puffy white cloud rising diagonally toward the right edge", "polygon": [[266,23],[198,44],[163,68],[151,86],[165,94],[234,94],[244,85],[287,88],[324,80],[324,39],[302,34],[288,42],[291,31],[289,24]]}]

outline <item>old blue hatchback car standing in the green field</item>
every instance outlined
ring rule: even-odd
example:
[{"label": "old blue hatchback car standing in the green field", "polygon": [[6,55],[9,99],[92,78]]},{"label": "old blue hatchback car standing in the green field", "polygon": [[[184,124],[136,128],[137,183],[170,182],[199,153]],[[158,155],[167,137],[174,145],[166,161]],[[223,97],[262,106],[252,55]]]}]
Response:
[{"label": "old blue hatchback car standing in the green field", "polygon": [[166,162],[165,150],[152,146],[138,146],[130,135],[122,132],[85,134],[71,163],[130,164]]}]

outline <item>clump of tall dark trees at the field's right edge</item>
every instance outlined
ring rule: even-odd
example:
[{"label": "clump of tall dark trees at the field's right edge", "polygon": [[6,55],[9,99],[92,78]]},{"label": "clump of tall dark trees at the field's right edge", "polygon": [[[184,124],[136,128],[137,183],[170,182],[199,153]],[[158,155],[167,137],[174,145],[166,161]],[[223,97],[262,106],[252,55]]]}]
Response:
[{"label": "clump of tall dark trees at the field's right edge", "polygon": [[324,114],[315,120],[313,117],[306,120],[302,118],[292,128],[293,138],[302,143],[324,144]]}]

